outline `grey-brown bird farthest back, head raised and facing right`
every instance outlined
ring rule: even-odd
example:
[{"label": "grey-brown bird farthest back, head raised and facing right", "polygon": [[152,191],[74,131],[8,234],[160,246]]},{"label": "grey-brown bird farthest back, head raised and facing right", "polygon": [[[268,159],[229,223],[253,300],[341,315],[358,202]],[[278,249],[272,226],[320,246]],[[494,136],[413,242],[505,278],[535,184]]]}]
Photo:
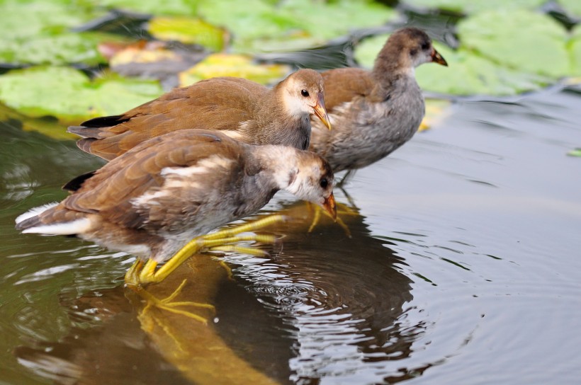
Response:
[{"label": "grey-brown bird farthest back, head raised and facing right", "polygon": [[425,113],[414,68],[429,62],[448,65],[424,31],[402,28],[390,35],[371,71],[322,72],[333,130],[312,120],[310,149],[337,173],[368,166],[410,140]]}]

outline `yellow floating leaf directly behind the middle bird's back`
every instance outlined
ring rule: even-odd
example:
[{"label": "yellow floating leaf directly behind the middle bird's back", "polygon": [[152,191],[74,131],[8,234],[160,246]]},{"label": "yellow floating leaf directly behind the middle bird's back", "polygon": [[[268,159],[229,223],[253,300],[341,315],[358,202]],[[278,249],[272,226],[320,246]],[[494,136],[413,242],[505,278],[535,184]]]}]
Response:
[{"label": "yellow floating leaf directly behind the middle bird's back", "polygon": [[290,67],[283,64],[256,64],[241,54],[211,54],[196,66],[179,75],[180,86],[188,86],[215,76],[237,76],[269,84],[288,74]]}]

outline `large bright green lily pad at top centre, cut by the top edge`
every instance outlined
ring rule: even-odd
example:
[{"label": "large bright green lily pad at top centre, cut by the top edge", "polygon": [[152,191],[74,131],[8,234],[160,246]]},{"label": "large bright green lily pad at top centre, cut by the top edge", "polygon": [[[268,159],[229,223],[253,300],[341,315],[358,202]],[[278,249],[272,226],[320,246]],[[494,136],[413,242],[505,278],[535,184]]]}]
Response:
[{"label": "large bright green lily pad at top centre, cut by the top edge", "polygon": [[305,49],[355,28],[382,25],[397,17],[392,9],[368,1],[200,0],[199,14],[233,33],[236,52]]}]

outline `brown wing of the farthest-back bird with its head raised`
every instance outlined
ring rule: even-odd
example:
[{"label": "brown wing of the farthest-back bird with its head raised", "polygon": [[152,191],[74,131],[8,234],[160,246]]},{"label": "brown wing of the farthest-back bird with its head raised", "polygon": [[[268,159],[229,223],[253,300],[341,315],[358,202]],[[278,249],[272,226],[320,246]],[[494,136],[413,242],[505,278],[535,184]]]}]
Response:
[{"label": "brown wing of the farthest-back bird with its head raised", "polygon": [[325,107],[329,113],[355,96],[367,96],[373,88],[371,73],[360,68],[338,68],[322,72]]}]

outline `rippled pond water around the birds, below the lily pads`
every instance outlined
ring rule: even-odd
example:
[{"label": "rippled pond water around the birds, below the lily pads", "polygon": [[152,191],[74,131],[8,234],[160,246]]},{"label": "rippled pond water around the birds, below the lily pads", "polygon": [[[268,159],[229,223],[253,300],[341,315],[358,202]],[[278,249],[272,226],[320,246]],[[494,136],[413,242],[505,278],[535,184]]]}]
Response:
[{"label": "rippled pond water around the birds, below the lily pads", "polygon": [[[282,242],[225,255],[212,328],[281,383],[577,383],[580,105],[578,86],[456,103],[337,192],[350,238],[277,195]],[[0,382],[188,384],[125,297],[130,255],[13,230],[99,161],[17,120],[0,137]]]}]

